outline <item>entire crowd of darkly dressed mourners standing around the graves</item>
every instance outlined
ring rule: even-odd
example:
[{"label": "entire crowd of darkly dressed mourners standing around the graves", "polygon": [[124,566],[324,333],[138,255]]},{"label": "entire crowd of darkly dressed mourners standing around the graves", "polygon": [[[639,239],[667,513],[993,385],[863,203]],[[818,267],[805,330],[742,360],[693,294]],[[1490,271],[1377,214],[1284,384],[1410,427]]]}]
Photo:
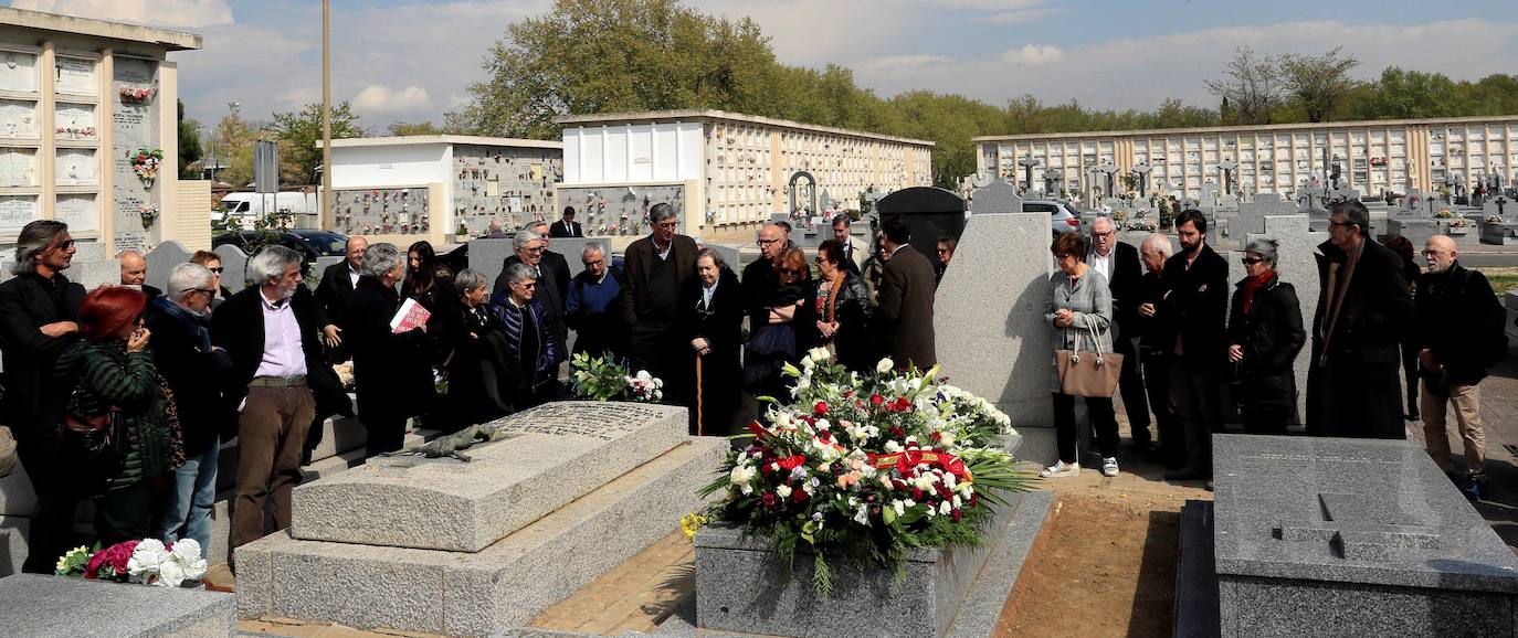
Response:
[{"label": "entire crowd of darkly dressed mourners standing around the graves", "polygon": [[[102,543],[209,544],[219,443],[232,436],[231,547],[254,541],[270,520],[288,524],[291,489],[328,417],[357,415],[367,455],[395,452],[413,417],[449,432],[563,399],[571,341],[574,353],[663,379],[665,402],[689,408],[691,432],[712,435],[753,418],[753,399],[786,397],[782,368],[811,349],[859,371],[882,358],[899,370],[935,365],[934,294],[952,238],[931,259],[912,249],[902,217],[885,218],[871,247],[836,215],[809,262],[786,224],[767,224],[759,259],[739,277],[720,252],[676,232],[669,205],[648,217],[651,233],[627,247],[619,271],[589,242],[583,271],[569,276],[566,258],[550,250],[551,238],[580,233],[566,211],[553,227],[539,221],[512,236],[495,282],[449,271],[425,241],[402,253],[354,236],[314,291],[302,256],[270,246],[247,262],[250,285],[237,294],[222,286],[209,252],[176,265],[164,289],[146,285],[143,256],[128,252],[120,285],[87,292],[64,274],[74,255],[68,227],[29,223],[14,277],[0,283],[5,402],[39,509],[24,570],[52,571],[83,499],[96,503]],[[1277,274],[1277,242],[1248,242],[1245,277],[1230,286],[1227,262],[1205,242],[1207,218],[1181,211],[1175,227],[1176,255],[1161,235],[1137,250],[1119,242],[1107,218],[1088,236],[1053,241],[1044,318],[1055,349],[1123,362],[1104,396],[1072,389],[1055,358],[1058,458],[1043,476],[1081,470],[1078,396],[1101,471],[1119,473],[1113,399],[1122,396],[1134,449],[1161,459],[1167,479],[1210,477],[1210,435],[1231,412],[1225,399],[1246,432],[1287,432],[1298,412],[1293,364],[1310,335],[1307,433],[1403,438],[1403,420],[1421,415],[1430,455],[1453,470],[1453,406],[1460,482],[1479,494],[1480,382],[1506,353],[1504,314],[1450,238],[1428,239],[1419,274],[1409,247],[1368,235],[1363,205],[1334,206],[1307,324],[1296,289]],[[402,320],[417,317],[413,306],[427,317]],[[1475,338],[1445,329],[1454,323],[1475,326]],[[334,371],[348,359],[357,414]]]}]

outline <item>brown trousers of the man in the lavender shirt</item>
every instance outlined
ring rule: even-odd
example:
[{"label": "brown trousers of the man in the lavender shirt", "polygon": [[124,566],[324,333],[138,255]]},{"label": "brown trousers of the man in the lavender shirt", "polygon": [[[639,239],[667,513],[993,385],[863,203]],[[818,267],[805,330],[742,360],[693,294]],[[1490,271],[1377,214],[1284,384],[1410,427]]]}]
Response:
[{"label": "brown trousers of the man in the lavender shirt", "polygon": [[264,536],[267,500],[275,506],[275,529],[290,526],[290,491],[301,485],[301,449],[314,415],[316,397],[305,385],[247,388],[237,421],[234,549]]}]

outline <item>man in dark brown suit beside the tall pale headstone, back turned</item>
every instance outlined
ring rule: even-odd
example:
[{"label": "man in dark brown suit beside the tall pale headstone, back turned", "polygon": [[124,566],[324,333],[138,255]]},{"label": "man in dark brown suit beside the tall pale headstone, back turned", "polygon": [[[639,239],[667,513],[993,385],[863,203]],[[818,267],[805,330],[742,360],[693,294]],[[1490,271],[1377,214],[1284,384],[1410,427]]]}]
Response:
[{"label": "man in dark brown suit beside the tall pale headstone, back turned", "polygon": [[938,364],[934,346],[934,265],[908,239],[906,218],[894,215],[880,224],[885,250],[891,255],[880,276],[882,352],[897,370],[929,370]]}]

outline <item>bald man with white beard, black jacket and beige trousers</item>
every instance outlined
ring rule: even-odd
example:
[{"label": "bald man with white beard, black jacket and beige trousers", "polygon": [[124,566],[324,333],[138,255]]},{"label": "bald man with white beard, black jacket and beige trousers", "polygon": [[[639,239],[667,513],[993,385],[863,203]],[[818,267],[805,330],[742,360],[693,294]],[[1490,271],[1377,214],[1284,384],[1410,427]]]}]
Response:
[{"label": "bald man with white beard, black jacket and beige trousers", "polygon": [[[1482,497],[1486,482],[1486,427],[1482,424],[1482,379],[1507,353],[1503,332],[1507,312],[1486,276],[1460,265],[1454,239],[1428,238],[1424,246],[1428,271],[1418,276],[1413,339],[1422,380],[1424,444],[1428,456],[1451,477],[1445,406],[1454,408],[1457,433],[1465,447],[1465,476],[1456,482],[1471,500]],[[1462,326],[1451,330],[1450,326]]]}]

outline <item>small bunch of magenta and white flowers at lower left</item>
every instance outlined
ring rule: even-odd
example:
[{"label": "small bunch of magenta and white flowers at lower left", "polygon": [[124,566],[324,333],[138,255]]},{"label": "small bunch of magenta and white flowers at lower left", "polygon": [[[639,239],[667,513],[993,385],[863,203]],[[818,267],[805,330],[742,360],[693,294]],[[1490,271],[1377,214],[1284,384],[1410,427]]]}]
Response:
[{"label": "small bunch of magenta and white flowers at lower left", "polygon": [[185,580],[205,577],[205,558],[200,544],[193,538],[181,538],[164,544],[156,538],[117,543],[94,552],[74,547],[58,559],[58,576],[87,580],[132,582],[143,585],[179,586]]}]

